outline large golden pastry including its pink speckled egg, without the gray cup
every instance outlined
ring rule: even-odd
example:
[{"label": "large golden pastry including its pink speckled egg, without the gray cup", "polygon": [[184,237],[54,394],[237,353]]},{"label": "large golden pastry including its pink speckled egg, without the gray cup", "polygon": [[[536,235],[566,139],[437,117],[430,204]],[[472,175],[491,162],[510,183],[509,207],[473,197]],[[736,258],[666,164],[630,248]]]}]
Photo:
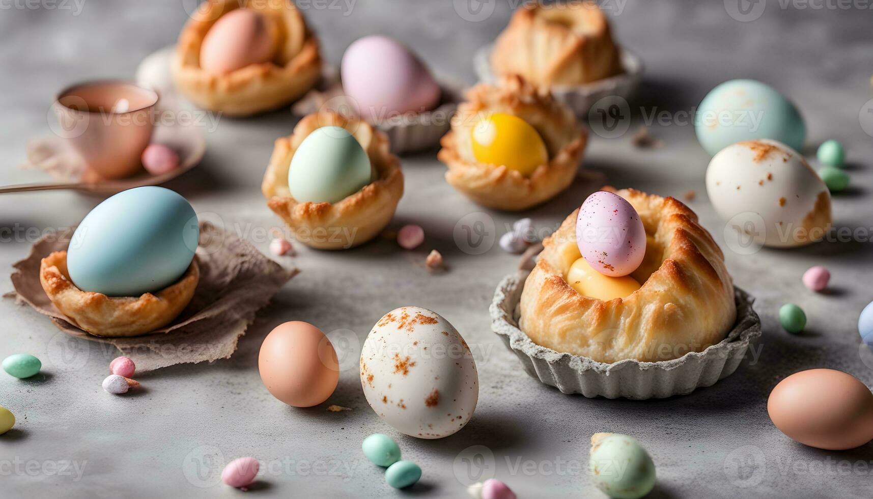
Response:
[{"label": "large golden pastry including its pink speckled egg, without the gray cup", "polygon": [[612,364],[703,351],[732,330],[725,257],[674,198],[604,188],[545,239],[519,328],[540,346]]}]

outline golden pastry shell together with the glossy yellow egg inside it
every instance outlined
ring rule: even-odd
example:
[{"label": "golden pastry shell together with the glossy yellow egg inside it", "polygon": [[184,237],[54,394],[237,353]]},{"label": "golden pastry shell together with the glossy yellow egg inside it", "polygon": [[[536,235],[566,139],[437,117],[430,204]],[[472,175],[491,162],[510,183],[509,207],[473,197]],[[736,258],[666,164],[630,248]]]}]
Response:
[{"label": "golden pastry shell together with the glossy yellow egg inside it", "polygon": [[588,135],[547,90],[510,76],[466,97],[437,156],[452,187],[478,204],[520,211],[573,182]]}]

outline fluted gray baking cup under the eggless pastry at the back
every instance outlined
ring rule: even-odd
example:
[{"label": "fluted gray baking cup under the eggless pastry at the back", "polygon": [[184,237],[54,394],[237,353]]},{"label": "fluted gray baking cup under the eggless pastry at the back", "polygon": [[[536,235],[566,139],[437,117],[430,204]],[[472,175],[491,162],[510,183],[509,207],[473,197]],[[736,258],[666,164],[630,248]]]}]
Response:
[{"label": "fluted gray baking cup under the eggless pastry at the back", "polygon": [[[479,80],[484,83],[496,83],[498,78],[491,71],[491,50],[494,44],[481,47],[473,55],[473,69]],[[573,109],[579,118],[588,119],[588,111],[598,100],[604,98],[622,97],[630,100],[643,80],[643,59],[635,53],[622,48],[621,62],[624,73],[592,81],[584,85],[556,85],[550,88],[555,99]],[[614,100],[610,100],[613,102]]]}]

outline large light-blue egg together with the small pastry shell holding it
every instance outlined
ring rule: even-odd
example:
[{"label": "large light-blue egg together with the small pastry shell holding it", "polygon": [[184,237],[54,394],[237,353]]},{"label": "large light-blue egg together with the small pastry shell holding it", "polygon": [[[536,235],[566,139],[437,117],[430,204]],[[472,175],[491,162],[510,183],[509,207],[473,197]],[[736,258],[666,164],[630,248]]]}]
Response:
[{"label": "large light-blue egg together with the small pastry shell holding it", "polygon": [[174,191],[122,191],[88,213],[66,251],[42,260],[39,281],[79,329],[142,335],[172,322],[194,296],[199,232],[194,209]]}]

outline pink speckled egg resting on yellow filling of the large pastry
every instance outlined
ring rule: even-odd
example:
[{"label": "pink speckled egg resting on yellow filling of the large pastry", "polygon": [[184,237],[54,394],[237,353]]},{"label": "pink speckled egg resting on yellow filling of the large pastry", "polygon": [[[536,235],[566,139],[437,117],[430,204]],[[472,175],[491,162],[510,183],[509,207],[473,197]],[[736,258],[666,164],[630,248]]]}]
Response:
[{"label": "pink speckled egg resting on yellow filling of the large pastry", "polygon": [[597,272],[620,277],[643,263],[646,232],[630,203],[612,192],[597,191],[579,210],[576,244]]}]

